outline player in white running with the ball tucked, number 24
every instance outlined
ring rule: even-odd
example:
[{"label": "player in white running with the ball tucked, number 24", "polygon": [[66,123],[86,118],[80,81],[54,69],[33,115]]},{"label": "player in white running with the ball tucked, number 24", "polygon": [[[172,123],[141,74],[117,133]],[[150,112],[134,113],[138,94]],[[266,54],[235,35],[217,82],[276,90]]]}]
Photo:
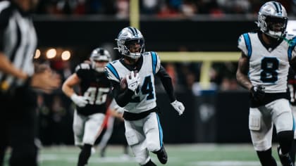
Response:
[{"label": "player in white running with the ball tucked, number 24", "polygon": [[118,34],[117,48],[123,56],[108,63],[106,75],[111,80],[113,96],[124,108],[125,138],[140,165],[155,165],[149,151],[156,153],[162,164],[168,156],[156,106],[154,77],[161,79],[171,106],[182,115],[185,107],[177,101],[171,77],[156,52],[144,51],[144,37],[135,27],[125,27]]}]

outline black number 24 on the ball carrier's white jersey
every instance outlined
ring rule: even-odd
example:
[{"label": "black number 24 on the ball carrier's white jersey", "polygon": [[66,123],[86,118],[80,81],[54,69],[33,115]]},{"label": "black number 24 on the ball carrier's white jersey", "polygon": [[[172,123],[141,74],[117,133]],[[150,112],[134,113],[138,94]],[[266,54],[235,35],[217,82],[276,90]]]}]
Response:
[{"label": "black number 24 on the ball carrier's white jersey", "polygon": [[[146,100],[150,100],[154,98],[154,87],[151,81],[151,76],[147,76],[144,79],[144,83],[142,84],[141,87],[142,94],[147,94]],[[138,92],[138,91],[137,91]],[[140,96],[136,96],[132,98],[132,103],[139,103],[140,102]]]}]

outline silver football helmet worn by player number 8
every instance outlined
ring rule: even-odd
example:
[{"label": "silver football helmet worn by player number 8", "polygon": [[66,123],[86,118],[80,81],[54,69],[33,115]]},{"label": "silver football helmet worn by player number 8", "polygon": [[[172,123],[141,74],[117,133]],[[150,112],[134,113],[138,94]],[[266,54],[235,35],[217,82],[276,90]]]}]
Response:
[{"label": "silver football helmet worn by player number 8", "polygon": [[287,11],[279,2],[269,1],[261,6],[257,25],[265,34],[277,39],[283,37],[287,22]]}]

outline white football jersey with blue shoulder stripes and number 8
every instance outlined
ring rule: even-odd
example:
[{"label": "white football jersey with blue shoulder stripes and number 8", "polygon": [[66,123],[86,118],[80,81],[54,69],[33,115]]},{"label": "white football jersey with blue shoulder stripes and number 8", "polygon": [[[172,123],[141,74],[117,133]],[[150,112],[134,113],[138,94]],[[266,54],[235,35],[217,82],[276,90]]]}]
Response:
[{"label": "white football jersey with blue shoulder stripes and number 8", "polygon": [[249,58],[249,79],[254,86],[263,85],[266,93],[287,91],[289,61],[295,57],[296,37],[287,34],[275,49],[266,49],[257,33],[245,33],[238,48]]}]

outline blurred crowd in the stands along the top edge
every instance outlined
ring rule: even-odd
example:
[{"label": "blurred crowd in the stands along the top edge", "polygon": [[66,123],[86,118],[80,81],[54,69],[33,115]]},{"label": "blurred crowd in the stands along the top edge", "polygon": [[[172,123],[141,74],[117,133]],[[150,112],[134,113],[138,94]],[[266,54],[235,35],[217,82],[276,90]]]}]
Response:
[{"label": "blurred crowd in the stands along the top edge", "polygon": [[[279,0],[292,15],[296,13],[295,0]],[[140,13],[159,18],[209,14],[257,13],[264,0],[139,0]],[[128,18],[129,0],[43,0],[39,4],[39,14],[51,15],[113,15]]]}]

